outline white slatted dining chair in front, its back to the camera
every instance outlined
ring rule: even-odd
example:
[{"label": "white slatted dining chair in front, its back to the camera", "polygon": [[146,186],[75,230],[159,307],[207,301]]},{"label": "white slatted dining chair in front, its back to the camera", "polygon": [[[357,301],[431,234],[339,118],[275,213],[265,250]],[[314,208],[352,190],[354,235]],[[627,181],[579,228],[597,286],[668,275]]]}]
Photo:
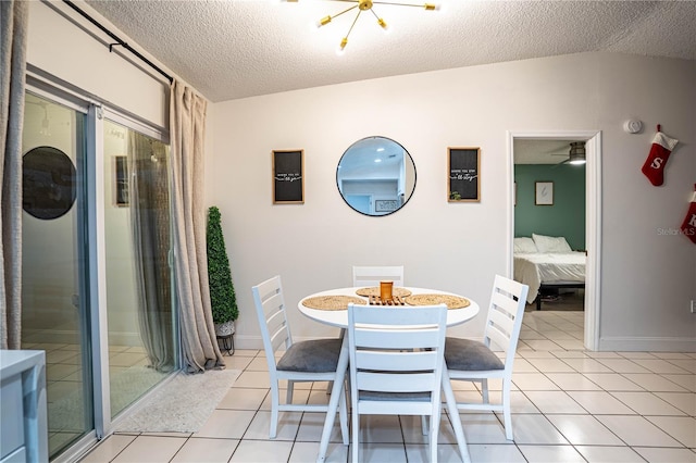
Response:
[{"label": "white slatted dining chair in front, its back to the camera", "polygon": [[[437,461],[447,306],[348,305],[352,462],[360,416],[430,416],[430,460]],[[424,429],[425,430],[425,429]]]}]

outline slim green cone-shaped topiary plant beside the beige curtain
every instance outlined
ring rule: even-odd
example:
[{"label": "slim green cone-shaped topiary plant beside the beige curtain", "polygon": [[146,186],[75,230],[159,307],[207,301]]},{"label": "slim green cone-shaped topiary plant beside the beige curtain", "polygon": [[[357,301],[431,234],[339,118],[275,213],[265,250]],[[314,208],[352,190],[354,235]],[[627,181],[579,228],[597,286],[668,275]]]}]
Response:
[{"label": "slim green cone-shaped topiary plant beside the beige curtain", "polygon": [[225,239],[222,236],[220,210],[214,205],[208,209],[206,240],[208,246],[208,288],[210,289],[213,323],[220,325],[229,321],[234,322],[239,316],[239,310],[237,309],[235,288],[232,284]]}]

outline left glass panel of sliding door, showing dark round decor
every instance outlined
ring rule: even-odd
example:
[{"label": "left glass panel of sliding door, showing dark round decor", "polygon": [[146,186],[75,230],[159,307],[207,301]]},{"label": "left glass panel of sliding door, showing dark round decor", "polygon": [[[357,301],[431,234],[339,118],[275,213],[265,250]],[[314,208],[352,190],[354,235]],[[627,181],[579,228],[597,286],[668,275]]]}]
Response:
[{"label": "left glass panel of sliding door, showing dark round decor", "polygon": [[46,351],[49,452],[92,429],[85,229],[86,114],[26,96],[22,349]]}]

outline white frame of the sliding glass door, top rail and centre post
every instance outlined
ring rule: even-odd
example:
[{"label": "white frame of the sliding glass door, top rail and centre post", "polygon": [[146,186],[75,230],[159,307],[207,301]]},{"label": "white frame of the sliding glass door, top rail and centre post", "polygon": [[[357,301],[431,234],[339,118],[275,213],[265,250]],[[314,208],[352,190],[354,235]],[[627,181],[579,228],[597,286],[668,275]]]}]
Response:
[{"label": "white frame of the sliding glass door, top rail and centre post", "polygon": [[[99,101],[89,92],[76,88],[57,77],[46,75],[40,70],[27,65],[26,92],[36,95],[46,100],[62,104],[82,114],[85,114],[85,143],[84,143],[84,174],[85,185],[79,195],[85,195],[85,209],[79,213],[85,214],[79,221],[83,224],[78,230],[80,252],[86,253],[85,265],[87,276],[80,279],[80,293],[88,304],[89,321],[85,326],[88,329],[88,352],[84,352],[90,359],[92,371],[92,412],[94,429],[73,443],[67,450],[57,455],[53,462],[74,461],[74,458],[89,449],[95,441],[108,436],[112,429],[111,400],[109,383],[109,338],[107,316],[107,273],[105,273],[105,221],[104,221],[104,117],[116,122],[128,129],[141,133],[148,137],[169,143],[169,133],[165,128],[151,124],[129,112],[109,107]],[[171,175],[171,173],[170,173]],[[170,255],[171,255],[170,251]],[[171,259],[170,259],[171,261]],[[174,285],[174,272],[172,271],[172,285]],[[174,288],[174,286],[172,286]],[[173,295],[176,291],[172,291]],[[176,314],[176,298],[172,297],[173,313]],[[181,368],[181,346],[178,343],[178,320],[173,320],[174,339],[176,340],[176,365],[173,373]],[[166,381],[166,379],[165,379]],[[137,401],[136,403],[137,404]],[[133,405],[129,406],[129,409]],[[125,415],[127,413],[127,409]]]}]

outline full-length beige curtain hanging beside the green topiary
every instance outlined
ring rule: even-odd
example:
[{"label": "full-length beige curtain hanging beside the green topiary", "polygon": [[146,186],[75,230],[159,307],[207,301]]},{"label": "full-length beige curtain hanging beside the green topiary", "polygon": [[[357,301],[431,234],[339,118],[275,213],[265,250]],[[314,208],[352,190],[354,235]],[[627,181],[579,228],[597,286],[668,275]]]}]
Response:
[{"label": "full-length beige curtain hanging beside the green topiary", "polygon": [[170,99],[174,268],[184,367],[190,373],[224,366],[208,290],[203,205],[207,107],[202,97],[174,80]]}]

